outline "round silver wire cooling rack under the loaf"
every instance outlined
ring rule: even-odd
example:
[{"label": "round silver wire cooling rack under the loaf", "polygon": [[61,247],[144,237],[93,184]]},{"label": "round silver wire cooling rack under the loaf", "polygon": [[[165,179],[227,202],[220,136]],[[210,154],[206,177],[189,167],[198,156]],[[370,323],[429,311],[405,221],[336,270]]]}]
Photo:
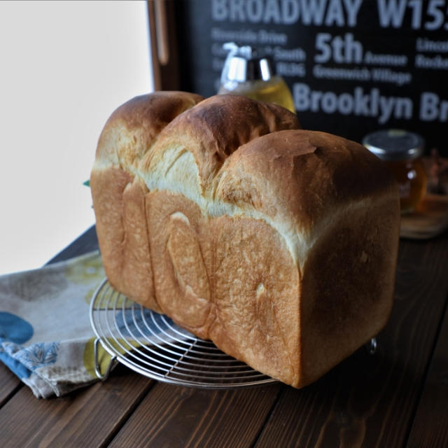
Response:
[{"label": "round silver wire cooling rack under the loaf", "polygon": [[[95,372],[105,379],[117,361],[146,377],[179,386],[234,388],[276,382],[183,330],[170,318],[132,302],[104,279],[90,304]],[[111,356],[101,372],[99,344]]]}]

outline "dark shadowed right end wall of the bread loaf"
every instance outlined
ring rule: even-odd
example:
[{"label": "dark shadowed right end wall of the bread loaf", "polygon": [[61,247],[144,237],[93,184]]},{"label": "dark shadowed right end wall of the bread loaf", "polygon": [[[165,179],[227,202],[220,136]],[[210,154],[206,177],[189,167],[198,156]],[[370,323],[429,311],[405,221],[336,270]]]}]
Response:
[{"label": "dark shadowed right end wall of the bread loaf", "polygon": [[301,316],[303,384],[321,377],[384,327],[393,305],[398,195],[340,210],[308,254]]}]

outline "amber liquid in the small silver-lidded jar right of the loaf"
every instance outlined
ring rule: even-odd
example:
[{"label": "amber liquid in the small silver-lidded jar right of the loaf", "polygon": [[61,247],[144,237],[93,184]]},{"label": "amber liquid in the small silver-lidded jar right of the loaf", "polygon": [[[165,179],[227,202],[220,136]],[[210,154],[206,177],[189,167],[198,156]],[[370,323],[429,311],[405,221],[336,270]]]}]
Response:
[{"label": "amber liquid in the small silver-lidded jar right of the loaf", "polygon": [[421,159],[385,162],[400,187],[401,213],[414,211],[426,193],[426,172]]}]

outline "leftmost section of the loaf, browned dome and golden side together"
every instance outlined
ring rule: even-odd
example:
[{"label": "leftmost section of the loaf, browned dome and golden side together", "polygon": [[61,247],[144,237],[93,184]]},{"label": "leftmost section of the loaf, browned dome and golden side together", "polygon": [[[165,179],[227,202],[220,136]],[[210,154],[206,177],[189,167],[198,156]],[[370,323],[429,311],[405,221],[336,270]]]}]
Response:
[{"label": "leftmost section of the loaf, browned dome and golden side together", "polygon": [[134,172],[160,131],[202,99],[187,92],[155,92],[118,107],[99,137],[90,174],[97,235],[109,281],[155,311],[160,308],[146,229],[148,188]]}]

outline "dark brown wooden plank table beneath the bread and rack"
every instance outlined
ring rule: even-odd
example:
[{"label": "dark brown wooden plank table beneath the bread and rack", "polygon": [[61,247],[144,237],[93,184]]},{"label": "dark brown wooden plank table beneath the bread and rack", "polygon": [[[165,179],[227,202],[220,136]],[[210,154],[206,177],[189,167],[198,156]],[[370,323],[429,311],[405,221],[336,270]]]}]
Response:
[{"label": "dark brown wooden plank table beneath the bread and rack", "polygon": [[[94,228],[55,259],[97,248]],[[395,304],[374,356],[315,384],[206,391],[120,366],[38,400],[0,365],[1,447],[447,447],[448,234],[402,240]]]}]

